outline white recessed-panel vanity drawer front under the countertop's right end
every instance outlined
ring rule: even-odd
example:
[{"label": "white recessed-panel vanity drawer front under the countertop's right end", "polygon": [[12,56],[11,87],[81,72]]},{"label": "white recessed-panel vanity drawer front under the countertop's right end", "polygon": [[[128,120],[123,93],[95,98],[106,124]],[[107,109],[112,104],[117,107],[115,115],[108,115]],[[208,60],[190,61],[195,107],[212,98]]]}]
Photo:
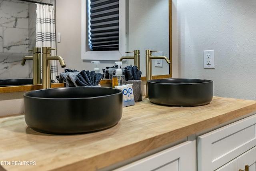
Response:
[{"label": "white recessed-panel vanity drawer front under the countertop's right end", "polygon": [[255,124],[252,115],[199,136],[198,171],[213,171],[256,146]]}]

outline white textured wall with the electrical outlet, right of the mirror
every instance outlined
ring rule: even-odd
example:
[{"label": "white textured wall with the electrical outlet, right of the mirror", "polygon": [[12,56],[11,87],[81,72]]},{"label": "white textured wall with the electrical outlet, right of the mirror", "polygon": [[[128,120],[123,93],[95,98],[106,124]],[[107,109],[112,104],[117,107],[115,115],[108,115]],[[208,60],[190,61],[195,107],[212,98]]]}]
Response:
[{"label": "white textured wall with the electrical outlet, right of the mirror", "polygon": [[[256,1],[176,2],[178,76],[213,80],[216,96],[256,100]],[[204,69],[203,50],[214,50],[215,69]]]}]

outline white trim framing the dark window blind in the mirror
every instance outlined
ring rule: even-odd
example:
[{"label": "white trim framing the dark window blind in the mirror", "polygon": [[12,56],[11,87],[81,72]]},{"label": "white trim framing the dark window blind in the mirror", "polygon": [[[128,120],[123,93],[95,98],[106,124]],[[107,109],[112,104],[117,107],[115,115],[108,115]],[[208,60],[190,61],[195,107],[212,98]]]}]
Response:
[{"label": "white trim framing the dark window blind in the mirror", "polygon": [[110,60],[118,61],[125,56],[126,35],[126,0],[119,0],[119,51],[87,51],[86,50],[86,0],[81,0],[81,59],[82,60]]}]

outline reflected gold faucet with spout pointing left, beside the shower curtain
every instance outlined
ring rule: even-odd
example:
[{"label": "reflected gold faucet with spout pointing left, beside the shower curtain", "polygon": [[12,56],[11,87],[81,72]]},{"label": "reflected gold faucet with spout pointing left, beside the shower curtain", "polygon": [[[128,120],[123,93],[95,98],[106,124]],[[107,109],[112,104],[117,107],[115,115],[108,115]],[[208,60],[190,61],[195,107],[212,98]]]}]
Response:
[{"label": "reflected gold faucet with spout pointing left, beside the shower curtain", "polygon": [[26,60],[33,60],[33,84],[41,84],[41,48],[33,48],[33,56],[24,56],[21,65],[25,65]]}]

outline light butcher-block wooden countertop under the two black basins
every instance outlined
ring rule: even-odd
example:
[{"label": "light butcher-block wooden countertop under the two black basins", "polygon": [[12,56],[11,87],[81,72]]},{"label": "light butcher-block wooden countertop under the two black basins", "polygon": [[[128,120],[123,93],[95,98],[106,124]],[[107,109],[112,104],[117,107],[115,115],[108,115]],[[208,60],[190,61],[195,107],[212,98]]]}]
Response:
[{"label": "light butcher-block wooden countertop under the two black basins", "polygon": [[0,171],[97,170],[256,111],[256,101],[214,97],[208,105],[168,107],[148,99],[124,107],[107,130],[50,135],[24,115],[0,118]]}]

